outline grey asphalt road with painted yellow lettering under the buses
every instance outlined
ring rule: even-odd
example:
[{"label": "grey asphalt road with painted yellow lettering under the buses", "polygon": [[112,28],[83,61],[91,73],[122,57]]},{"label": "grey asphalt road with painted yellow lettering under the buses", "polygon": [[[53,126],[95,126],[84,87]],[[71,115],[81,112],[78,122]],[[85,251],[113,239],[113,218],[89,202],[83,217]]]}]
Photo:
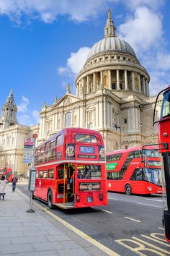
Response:
[{"label": "grey asphalt road with painted yellow lettering under the buses", "polygon": [[[19,189],[29,195],[27,186]],[[170,255],[161,224],[161,197],[109,192],[107,207],[51,211],[120,255]]]}]

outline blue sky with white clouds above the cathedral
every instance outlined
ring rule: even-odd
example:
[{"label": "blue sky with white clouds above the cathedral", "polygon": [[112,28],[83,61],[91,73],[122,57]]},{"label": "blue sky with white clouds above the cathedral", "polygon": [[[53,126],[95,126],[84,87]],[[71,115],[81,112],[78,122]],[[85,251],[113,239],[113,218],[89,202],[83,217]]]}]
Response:
[{"label": "blue sky with white clouds above the cathedral", "polygon": [[75,93],[108,9],[148,70],[151,95],[170,84],[169,0],[0,0],[0,105],[12,88],[19,123],[36,124],[42,103],[61,98],[67,83]]}]

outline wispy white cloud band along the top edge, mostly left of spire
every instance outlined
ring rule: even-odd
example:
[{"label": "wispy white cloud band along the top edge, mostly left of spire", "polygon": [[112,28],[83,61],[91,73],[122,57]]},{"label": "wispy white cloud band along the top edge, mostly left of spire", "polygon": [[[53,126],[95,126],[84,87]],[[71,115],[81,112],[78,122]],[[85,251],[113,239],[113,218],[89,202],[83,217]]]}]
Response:
[{"label": "wispy white cloud band along the top edge, mostly left of spire", "polygon": [[117,0],[0,0],[0,14],[19,23],[23,16],[53,22],[58,15],[68,15],[71,20],[84,22],[95,18]]}]

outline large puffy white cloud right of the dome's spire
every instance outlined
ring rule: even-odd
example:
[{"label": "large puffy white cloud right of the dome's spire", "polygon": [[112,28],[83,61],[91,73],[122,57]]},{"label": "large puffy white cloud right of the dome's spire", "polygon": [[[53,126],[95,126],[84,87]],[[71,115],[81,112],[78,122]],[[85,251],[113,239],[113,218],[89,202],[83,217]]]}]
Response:
[{"label": "large puffy white cloud right of the dome's spire", "polygon": [[119,27],[120,38],[128,41],[136,54],[143,55],[153,47],[160,46],[163,38],[161,14],[147,7],[138,7],[132,16]]}]

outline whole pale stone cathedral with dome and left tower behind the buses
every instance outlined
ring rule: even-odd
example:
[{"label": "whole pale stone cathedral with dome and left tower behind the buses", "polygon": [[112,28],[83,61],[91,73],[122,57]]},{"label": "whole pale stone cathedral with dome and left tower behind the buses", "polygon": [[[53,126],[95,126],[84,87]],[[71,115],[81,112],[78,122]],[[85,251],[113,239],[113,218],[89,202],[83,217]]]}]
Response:
[{"label": "whole pale stone cathedral with dome and left tower behind the buses", "polygon": [[[149,95],[149,82],[133,48],[117,37],[109,11],[104,38],[94,44],[77,74],[76,95],[67,85],[62,98],[50,106],[43,104],[40,124],[26,127],[17,123],[17,106],[9,93],[0,118],[0,167],[27,174],[22,163],[24,137],[36,132],[39,144],[65,127],[97,130],[107,152],[156,143],[158,130],[152,125],[156,97]],[[158,116],[160,111],[161,101]]]}]

